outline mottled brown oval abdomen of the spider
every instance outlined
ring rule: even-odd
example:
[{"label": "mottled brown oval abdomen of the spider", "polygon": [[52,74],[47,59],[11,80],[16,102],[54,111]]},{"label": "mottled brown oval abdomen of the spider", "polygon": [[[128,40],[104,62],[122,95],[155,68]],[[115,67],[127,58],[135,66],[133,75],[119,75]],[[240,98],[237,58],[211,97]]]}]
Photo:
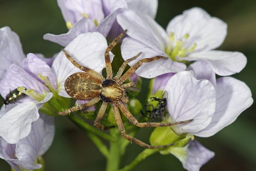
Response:
[{"label": "mottled brown oval abdomen of the spider", "polygon": [[94,98],[101,92],[102,82],[88,73],[73,73],[65,81],[68,95],[77,100]]}]

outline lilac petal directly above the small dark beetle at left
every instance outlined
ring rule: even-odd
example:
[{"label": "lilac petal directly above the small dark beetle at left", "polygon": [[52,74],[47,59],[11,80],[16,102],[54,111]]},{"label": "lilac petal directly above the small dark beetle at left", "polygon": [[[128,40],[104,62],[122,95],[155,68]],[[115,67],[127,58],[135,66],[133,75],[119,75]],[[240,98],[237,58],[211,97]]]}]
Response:
[{"label": "lilac petal directly above the small dark beetle at left", "polygon": [[49,90],[47,87],[31,76],[21,67],[12,64],[6,75],[0,82],[0,93],[2,97],[6,97],[10,90],[15,90],[17,87],[26,87],[26,89],[34,89],[37,93],[46,93]]}]

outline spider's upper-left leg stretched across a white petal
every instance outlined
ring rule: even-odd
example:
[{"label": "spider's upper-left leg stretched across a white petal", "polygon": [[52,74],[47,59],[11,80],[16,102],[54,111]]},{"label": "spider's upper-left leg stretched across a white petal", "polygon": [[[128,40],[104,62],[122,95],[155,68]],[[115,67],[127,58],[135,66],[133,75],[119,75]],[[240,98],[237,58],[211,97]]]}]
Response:
[{"label": "spider's upper-left leg stretched across a white petal", "polygon": [[65,56],[67,57],[67,59],[77,68],[79,68],[80,70],[86,72],[86,73],[89,73],[91,74],[92,76],[95,76],[96,78],[98,78],[99,80],[103,81],[103,76],[100,75],[99,73],[97,73],[96,71],[94,70],[91,70],[90,68],[87,68],[87,67],[84,67],[82,65],[80,65],[79,63],[77,63],[75,61],[75,59],[73,59],[73,57],[67,53],[66,50],[62,49],[62,51],[64,52]]}]

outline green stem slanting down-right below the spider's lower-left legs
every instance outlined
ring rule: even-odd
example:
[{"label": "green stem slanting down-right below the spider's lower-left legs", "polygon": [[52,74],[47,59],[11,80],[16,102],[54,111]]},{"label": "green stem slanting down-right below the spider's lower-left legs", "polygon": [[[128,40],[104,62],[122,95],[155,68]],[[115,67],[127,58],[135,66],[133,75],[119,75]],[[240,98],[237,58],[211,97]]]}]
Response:
[{"label": "green stem slanting down-right below the spider's lower-left legs", "polygon": [[83,119],[77,117],[76,115],[69,115],[68,118],[70,118],[71,121],[73,121],[73,123],[75,123],[78,127],[80,127],[81,129],[85,130],[85,131],[89,131],[93,134],[96,134],[100,137],[102,137],[105,140],[108,141],[112,141],[113,137],[111,137],[110,135],[100,131],[99,129],[94,128],[93,126],[91,126],[90,124],[86,123]]}]

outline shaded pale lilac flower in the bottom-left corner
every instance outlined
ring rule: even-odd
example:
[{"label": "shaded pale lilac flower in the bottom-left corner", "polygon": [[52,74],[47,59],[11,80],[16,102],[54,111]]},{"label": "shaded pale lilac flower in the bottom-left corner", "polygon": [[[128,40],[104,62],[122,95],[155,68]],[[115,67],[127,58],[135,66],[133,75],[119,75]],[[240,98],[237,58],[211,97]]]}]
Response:
[{"label": "shaded pale lilac flower in the bottom-left corner", "polygon": [[52,144],[55,132],[53,119],[40,114],[40,118],[32,123],[29,135],[16,144],[9,144],[0,137],[0,158],[6,160],[16,171],[41,168],[42,165],[36,164],[36,161]]}]

